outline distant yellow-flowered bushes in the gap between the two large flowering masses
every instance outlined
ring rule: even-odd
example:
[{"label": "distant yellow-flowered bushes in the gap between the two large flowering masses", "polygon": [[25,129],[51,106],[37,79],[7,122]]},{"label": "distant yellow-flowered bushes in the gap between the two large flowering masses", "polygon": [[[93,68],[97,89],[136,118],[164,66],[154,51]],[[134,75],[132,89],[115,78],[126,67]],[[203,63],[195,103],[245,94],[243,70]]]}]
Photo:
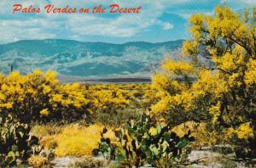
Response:
[{"label": "distant yellow-flowered bushes in the gap between the two large flowering masses", "polygon": [[[90,110],[114,113],[125,109],[137,97],[143,95],[144,88],[135,84],[94,84],[88,85],[84,95],[90,100]],[[141,94],[138,92],[142,92]]]}]

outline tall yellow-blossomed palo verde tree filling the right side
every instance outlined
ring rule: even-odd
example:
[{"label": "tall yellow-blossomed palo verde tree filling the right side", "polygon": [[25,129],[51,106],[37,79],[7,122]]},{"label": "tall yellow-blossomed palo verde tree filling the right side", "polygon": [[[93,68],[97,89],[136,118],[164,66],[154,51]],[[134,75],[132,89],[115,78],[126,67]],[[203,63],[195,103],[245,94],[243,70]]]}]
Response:
[{"label": "tall yellow-blossomed palo verde tree filling the right side", "polygon": [[235,14],[217,6],[189,24],[186,56],[164,61],[153,78],[154,115],[173,125],[207,122],[256,144],[256,8]]}]

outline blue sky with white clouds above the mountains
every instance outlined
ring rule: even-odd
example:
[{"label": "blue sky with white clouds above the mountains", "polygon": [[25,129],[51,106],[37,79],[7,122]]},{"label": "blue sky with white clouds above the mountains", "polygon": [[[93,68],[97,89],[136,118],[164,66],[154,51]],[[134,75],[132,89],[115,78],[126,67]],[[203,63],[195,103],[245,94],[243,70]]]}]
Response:
[{"label": "blue sky with white clouds above the mountains", "polygon": [[[31,4],[40,14],[12,14],[13,5]],[[141,14],[46,14],[48,3],[56,7],[142,6]],[[256,0],[1,0],[0,43],[30,39],[71,39],[82,42],[166,42],[189,37],[187,20],[191,14],[213,14],[217,4],[235,11],[252,7]]]}]

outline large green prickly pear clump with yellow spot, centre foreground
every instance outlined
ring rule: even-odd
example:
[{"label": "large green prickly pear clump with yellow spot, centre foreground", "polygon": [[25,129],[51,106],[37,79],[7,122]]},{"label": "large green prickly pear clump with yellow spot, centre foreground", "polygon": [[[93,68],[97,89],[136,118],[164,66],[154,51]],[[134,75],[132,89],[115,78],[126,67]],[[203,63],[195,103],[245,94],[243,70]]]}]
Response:
[{"label": "large green prickly pear clump with yellow spot, centre foreground", "polygon": [[[170,126],[157,124],[146,114],[143,114],[136,123],[128,122],[125,129],[132,139],[133,151],[138,158],[158,167],[170,167],[183,162],[184,154],[188,152],[186,147],[194,141],[194,137],[190,137],[190,132],[183,137],[177,137],[174,132],[170,132]],[[166,163],[164,160],[169,162]]]}]

